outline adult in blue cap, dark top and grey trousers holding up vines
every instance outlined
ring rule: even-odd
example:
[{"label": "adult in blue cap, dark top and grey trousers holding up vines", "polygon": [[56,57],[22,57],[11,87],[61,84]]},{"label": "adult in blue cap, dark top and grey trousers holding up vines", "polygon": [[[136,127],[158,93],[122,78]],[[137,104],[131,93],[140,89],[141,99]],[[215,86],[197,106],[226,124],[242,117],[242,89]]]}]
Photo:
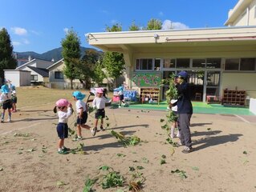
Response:
[{"label": "adult in blue cap, dark top and grey trousers holding up vines", "polygon": [[181,145],[185,146],[182,152],[185,154],[188,154],[193,151],[191,134],[189,129],[190,118],[193,114],[193,106],[190,100],[189,83],[187,82],[187,78],[187,72],[181,71],[177,74],[177,83],[175,85],[178,92],[178,127],[180,130]]}]

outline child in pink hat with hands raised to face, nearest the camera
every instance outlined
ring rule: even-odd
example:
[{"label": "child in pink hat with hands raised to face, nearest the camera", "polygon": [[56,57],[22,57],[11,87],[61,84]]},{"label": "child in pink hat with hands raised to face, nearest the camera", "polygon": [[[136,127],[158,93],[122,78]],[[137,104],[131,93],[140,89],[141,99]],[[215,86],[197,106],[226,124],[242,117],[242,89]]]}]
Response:
[{"label": "child in pink hat with hands raised to face, nearest the camera", "polygon": [[67,101],[67,99],[59,99],[56,102],[55,106],[55,112],[56,108],[58,109],[58,117],[59,117],[59,123],[57,125],[57,133],[59,136],[59,142],[58,142],[58,154],[68,154],[68,148],[64,146],[64,138],[67,138],[68,136],[68,126],[67,126],[67,119],[71,117],[72,114],[72,108],[71,103]]}]

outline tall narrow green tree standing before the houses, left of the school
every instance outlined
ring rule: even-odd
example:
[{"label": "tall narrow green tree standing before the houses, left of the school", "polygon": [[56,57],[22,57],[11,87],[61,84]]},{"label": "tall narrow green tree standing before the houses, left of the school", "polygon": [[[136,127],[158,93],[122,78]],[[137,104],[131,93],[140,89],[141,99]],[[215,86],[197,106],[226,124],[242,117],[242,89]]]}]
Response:
[{"label": "tall narrow green tree standing before the houses, left of the school", "polygon": [[73,90],[73,80],[79,76],[76,66],[80,63],[80,44],[80,39],[74,30],[68,30],[61,42],[65,63],[63,74],[71,80],[71,90]]}]

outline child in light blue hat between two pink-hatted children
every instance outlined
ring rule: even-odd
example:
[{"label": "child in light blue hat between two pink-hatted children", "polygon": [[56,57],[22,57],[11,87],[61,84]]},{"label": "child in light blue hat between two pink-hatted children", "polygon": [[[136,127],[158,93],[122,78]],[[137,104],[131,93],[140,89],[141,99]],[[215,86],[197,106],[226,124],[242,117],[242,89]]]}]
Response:
[{"label": "child in light blue hat between two pink-hatted children", "polygon": [[[80,91],[75,91],[73,92],[73,98],[75,100],[75,108],[76,108],[76,112],[78,113],[78,117],[77,117],[77,140],[82,140],[82,130],[81,128],[90,130],[91,127],[85,125],[85,123],[87,122],[87,104],[85,102],[83,102],[83,98],[85,98],[85,94],[82,94]],[[92,136],[95,136],[96,134],[96,130],[93,128],[91,129],[91,134]]]}]

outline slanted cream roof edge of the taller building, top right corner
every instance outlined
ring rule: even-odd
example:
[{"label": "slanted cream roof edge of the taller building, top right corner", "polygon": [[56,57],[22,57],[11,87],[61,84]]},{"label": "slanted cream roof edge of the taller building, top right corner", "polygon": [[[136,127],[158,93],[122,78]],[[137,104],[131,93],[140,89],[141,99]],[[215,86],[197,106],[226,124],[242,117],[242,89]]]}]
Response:
[{"label": "slanted cream roof edge of the taller building, top right corner", "polygon": [[224,23],[225,26],[233,26],[233,22],[246,10],[253,0],[239,0],[236,6],[229,12],[229,18]]}]

